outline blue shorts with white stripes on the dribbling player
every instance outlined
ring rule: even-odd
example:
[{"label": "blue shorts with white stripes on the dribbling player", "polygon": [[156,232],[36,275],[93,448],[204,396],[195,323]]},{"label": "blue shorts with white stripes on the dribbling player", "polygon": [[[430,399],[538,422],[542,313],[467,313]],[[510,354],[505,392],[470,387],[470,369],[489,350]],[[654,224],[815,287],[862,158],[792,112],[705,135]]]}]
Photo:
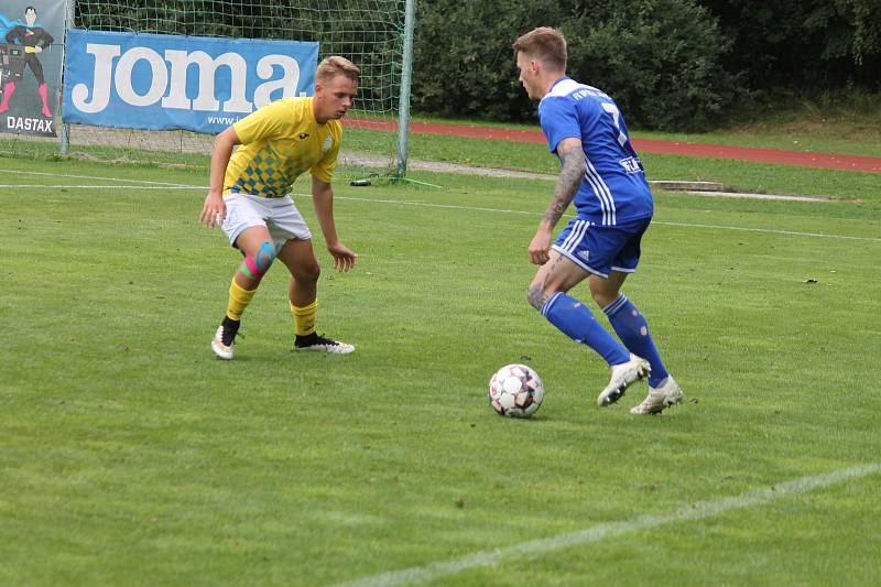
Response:
[{"label": "blue shorts with white stripes on the dribbling player", "polygon": [[640,241],[651,218],[617,226],[600,226],[574,218],[551,247],[562,256],[601,278],[611,271],[633,273],[640,262]]}]

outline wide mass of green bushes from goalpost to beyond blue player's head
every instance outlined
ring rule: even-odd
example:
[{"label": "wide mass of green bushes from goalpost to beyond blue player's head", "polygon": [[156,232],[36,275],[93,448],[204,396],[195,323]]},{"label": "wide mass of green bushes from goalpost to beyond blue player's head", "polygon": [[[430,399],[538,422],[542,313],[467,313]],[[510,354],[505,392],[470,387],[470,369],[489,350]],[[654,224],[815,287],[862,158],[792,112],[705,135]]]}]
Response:
[{"label": "wide mass of green bushes from goalpost to beyond blue player's head", "polygon": [[434,0],[420,6],[414,108],[530,118],[511,43],[542,25],[566,34],[570,75],[611,94],[631,126],[703,129],[733,100],[729,42],[693,0]]}]

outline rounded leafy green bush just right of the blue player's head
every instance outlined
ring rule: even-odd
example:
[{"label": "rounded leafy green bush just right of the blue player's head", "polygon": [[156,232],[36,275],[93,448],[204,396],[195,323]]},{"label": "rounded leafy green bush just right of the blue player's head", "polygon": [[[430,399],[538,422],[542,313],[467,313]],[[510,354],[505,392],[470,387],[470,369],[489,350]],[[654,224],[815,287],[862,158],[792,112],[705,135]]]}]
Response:
[{"label": "rounded leafy green bush just right of the blue player's head", "polygon": [[688,0],[634,0],[596,14],[564,26],[575,40],[574,76],[614,97],[631,126],[701,130],[718,122],[737,87],[721,67],[730,42],[705,9]]}]

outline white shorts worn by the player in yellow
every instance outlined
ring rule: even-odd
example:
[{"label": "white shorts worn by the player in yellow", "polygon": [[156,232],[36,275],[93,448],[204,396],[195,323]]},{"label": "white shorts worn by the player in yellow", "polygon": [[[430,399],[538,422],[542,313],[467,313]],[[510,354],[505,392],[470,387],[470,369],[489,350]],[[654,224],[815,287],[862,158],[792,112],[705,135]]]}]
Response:
[{"label": "white shorts worn by the player in yellow", "polygon": [[312,239],[309,227],[291,196],[261,198],[251,194],[226,194],[224,203],[227,205],[227,217],[220,228],[233,247],[239,235],[253,226],[269,229],[276,252],[291,239]]}]

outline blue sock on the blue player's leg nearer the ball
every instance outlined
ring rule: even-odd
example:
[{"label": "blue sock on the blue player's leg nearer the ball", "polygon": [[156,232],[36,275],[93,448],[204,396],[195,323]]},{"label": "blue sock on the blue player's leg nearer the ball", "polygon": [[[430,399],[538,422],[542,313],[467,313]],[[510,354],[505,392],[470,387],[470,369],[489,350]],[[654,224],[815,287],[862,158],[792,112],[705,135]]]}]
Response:
[{"label": "blue sock on the blue player's leg nearer the ball", "polygon": [[578,300],[559,292],[544,303],[542,315],[576,343],[584,343],[596,350],[609,365],[630,360],[630,352]]}]

